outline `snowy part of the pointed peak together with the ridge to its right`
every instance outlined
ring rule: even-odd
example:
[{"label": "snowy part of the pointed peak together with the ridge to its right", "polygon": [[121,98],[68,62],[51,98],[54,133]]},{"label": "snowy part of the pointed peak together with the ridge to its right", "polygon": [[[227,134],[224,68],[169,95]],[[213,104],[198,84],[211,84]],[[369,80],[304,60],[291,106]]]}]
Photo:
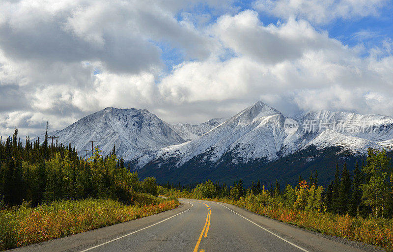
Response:
[{"label": "snowy part of the pointed peak together with the ridge to its right", "polygon": [[194,140],[161,148],[154,159],[143,164],[142,173],[152,175],[158,169],[185,172],[182,179],[187,181],[197,172],[220,170],[224,174],[225,169],[234,167],[263,167],[297,152],[304,156],[310,146],[321,152],[318,157],[332,148],[337,155],[356,156],[364,155],[369,147],[389,151],[393,143],[393,118],[389,116],[308,112],[295,117],[299,128],[294,132],[285,131],[286,119],[281,112],[258,101]]}]

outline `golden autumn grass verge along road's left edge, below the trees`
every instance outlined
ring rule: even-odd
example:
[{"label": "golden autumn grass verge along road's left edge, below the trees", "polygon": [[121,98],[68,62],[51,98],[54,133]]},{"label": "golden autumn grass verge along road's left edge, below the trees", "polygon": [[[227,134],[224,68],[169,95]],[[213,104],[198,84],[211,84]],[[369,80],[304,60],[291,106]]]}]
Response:
[{"label": "golden autumn grass verge along road's left edge, below the trees", "polygon": [[0,250],[118,224],[177,207],[177,199],[141,194],[134,206],[111,199],[55,201],[35,208],[0,210]]}]

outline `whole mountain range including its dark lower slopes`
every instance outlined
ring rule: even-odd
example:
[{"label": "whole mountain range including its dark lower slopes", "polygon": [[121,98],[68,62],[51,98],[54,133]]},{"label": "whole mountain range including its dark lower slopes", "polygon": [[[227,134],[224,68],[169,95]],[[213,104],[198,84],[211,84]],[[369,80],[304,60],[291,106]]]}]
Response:
[{"label": "whole mountain range including its dark lower slopes", "polygon": [[[81,155],[91,149],[91,140],[102,154],[115,144],[117,154],[142,177],[161,182],[261,179],[252,174],[266,179],[276,174],[289,182],[310,167],[328,174],[328,156],[353,161],[369,147],[390,151],[393,117],[311,111],[289,118],[258,101],[229,119],[169,125],[147,110],[106,108],[50,134]],[[296,168],[287,167],[291,164]]]}]

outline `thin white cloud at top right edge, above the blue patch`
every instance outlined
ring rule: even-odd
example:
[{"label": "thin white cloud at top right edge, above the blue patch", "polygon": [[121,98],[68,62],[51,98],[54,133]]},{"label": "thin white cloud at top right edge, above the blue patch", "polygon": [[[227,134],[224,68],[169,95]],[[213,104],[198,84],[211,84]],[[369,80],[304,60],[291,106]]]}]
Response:
[{"label": "thin white cloud at top right edge, above the blue patch", "polygon": [[256,0],[255,9],[283,19],[297,17],[315,24],[378,15],[389,0]]}]

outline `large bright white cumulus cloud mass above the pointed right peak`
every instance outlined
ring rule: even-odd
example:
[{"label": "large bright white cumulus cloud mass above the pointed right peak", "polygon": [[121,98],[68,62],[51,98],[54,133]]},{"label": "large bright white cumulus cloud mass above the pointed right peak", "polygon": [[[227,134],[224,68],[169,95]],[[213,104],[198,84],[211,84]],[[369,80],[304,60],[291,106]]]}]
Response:
[{"label": "large bright white cumulus cloud mass above the pointed right peak", "polygon": [[[384,108],[392,115],[393,57],[381,57],[388,46],[362,58],[357,48],[344,46],[306,21],[264,26],[253,11],[224,16],[213,31],[237,56],[180,64],[159,86],[167,100],[261,99],[289,114],[296,109],[367,113]],[[375,83],[381,92],[375,91]],[[371,97],[372,92],[379,93],[379,99]]]}]

